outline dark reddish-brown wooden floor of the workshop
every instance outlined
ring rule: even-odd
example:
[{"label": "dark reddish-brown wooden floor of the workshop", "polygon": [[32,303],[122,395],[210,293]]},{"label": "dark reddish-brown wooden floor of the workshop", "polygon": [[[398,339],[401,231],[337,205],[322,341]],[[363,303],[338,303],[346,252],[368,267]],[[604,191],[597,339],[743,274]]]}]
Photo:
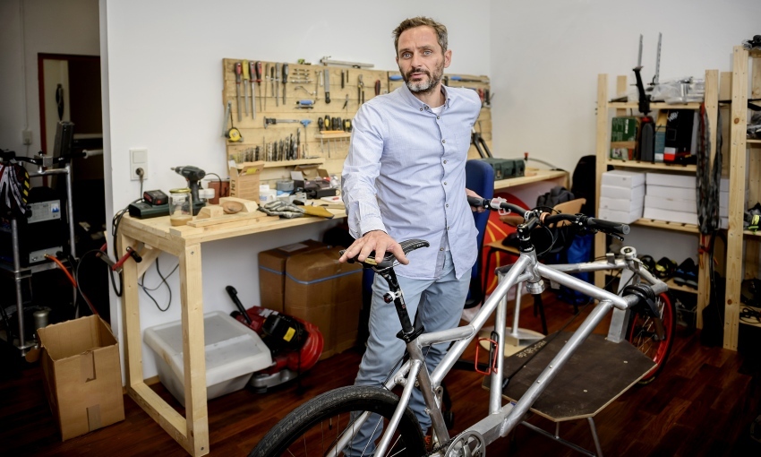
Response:
[{"label": "dark reddish-brown wooden floor of the workshop", "polygon": [[[572,308],[555,302],[547,305],[547,314],[552,332],[569,319]],[[521,323],[539,330],[528,311],[521,314]],[[246,455],[269,427],[295,406],[331,388],[352,384],[360,357],[359,350],[349,350],[324,360],[304,376],[300,386],[292,382],[266,393],[244,390],[209,401],[210,455]],[[61,443],[44,397],[39,366],[16,366],[16,358],[10,360],[5,356],[0,369],[0,455],[186,455],[128,396],[124,397],[124,422]],[[736,352],[701,346],[697,332],[680,327],[663,374],[653,384],[624,393],[596,416],[603,453],[632,457],[761,455],[761,444],[748,437],[750,422],[761,413],[759,379],[757,362]],[[473,372],[449,374],[446,384],[454,401],[456,430],[485,414],[488,392],[481,382],[482,376]],[[600,382],[604,383],[604,377]],[[154,389],[184,412],[160,384]],[[546,419],[534,416],[528,420],[554,430]],[[563,424],[560,436],[593,449],[585,420]],[[526,427],[519,427],[487,451],[489,455],[579,455]]]}]

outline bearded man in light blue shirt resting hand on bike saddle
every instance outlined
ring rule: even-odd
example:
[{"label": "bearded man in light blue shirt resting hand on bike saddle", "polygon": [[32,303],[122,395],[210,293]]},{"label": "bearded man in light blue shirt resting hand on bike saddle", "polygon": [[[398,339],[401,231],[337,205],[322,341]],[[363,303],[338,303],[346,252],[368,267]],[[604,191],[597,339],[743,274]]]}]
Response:
[{"label": "bearded man in light blue shirt resting hand on bike saddle", "polygon": [[[393,35],[405,85],[364,103],[355,116],[342,176],[355,242],[340,261],[363,261],[373,250],[379,261],[387,251],[395,254],[403,264],[396,272],[407,311],[433,332],[459,322],[476,260],[477,231],[466,195],[477,195],[465,187],[465,163],[481,100],[475,91],[441,84],[452,58],[442,24],[407,19]],[[409,238],[431,244],[411,254],[413,264],[398,244]],[[396,310],[383,301],[388,285],[376,276],[372,290],[370,338],[357,385],[381,385],[405,349],[396,338]],[[446,344],[438,346],[426,356],[429,369],[446,351]],[[412,408],[427,430],[431,418],[417,390]]]}]

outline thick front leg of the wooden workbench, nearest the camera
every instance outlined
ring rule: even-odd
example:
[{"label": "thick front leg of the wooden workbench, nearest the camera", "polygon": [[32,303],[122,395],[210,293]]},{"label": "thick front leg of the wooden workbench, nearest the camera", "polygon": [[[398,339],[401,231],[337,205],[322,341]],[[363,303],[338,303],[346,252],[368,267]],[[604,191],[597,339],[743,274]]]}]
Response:
[{"label": "thick front leg of the wooden workbench, nearest the camera", "polygon": [[209,453],[209,413],[206,407],[206,358],[203,334],[201,245],[185,246],[180,254],[180,301],[183,315],[183,362],[187,438],[193,456]]}]

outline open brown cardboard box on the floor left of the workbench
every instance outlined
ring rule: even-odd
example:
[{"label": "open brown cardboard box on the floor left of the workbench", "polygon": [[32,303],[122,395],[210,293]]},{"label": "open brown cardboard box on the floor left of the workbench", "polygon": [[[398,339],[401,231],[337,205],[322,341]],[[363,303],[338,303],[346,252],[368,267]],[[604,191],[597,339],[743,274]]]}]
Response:
[{"label": "open brown cardboard box on the floor left of the workbench", "polygon": [[119,344],[98,316],[38,329],[43,384],[65,441],[124,420]]}]

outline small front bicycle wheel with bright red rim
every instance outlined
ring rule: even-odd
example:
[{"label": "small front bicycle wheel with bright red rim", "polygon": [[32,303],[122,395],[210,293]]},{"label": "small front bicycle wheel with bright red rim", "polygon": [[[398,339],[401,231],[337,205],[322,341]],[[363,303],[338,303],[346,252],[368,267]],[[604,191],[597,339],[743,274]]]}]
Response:
[{"label": "small front bicycle wheel with bright red rim", "polygon": [[655,366],[642,377],[640,382],[652,378],[658,371],[664,359],[669,353],[669,344],[671,343],[671,323],[674,315],[671,310],[671,301],[665,294],[655,297],[656,304],[661,313],[663,321],[663,341],[658,340],[655,329],[655,320],[650,316],[635,315],[634,324],[631,326],[628,341],[639,349],[647,358],[651,358]]}]

